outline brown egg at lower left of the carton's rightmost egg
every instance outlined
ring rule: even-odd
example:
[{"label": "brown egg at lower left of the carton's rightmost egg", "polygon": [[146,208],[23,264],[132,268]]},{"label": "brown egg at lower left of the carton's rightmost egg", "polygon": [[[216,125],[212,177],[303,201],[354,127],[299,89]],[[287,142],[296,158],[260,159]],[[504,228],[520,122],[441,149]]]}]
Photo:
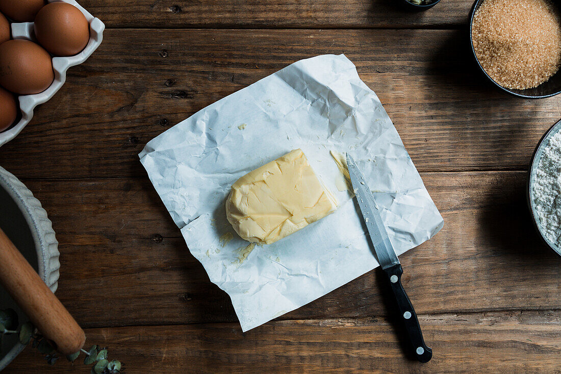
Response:
[{"label": "brown egg at lower left of the carton's rightmost egg", "polygon": [[20,95],[43,92],[53,83],[50,55],[40,45],[15,39],[0,44],[0,85]]}]

